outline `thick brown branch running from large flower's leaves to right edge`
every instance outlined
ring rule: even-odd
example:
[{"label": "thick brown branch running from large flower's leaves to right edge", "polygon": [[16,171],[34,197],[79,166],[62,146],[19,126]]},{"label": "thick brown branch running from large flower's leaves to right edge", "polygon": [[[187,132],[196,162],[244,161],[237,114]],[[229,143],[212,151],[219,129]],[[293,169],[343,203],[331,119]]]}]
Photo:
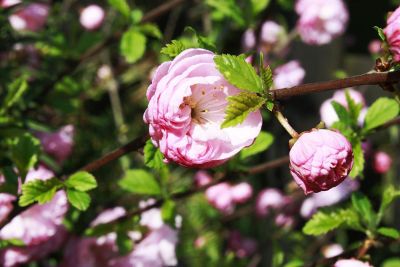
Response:
[{"label": "thick brown branch running from large flower's leaves to right edge", "polygon": [[328,90],[342,89],[359,85],[379,85],[385,83],[400,82],[400,71],[366,73],[339,80],[327,82],[306,83],[291,88],[271,90],[274,99],[285,99],[291,96],[298,96]]}]

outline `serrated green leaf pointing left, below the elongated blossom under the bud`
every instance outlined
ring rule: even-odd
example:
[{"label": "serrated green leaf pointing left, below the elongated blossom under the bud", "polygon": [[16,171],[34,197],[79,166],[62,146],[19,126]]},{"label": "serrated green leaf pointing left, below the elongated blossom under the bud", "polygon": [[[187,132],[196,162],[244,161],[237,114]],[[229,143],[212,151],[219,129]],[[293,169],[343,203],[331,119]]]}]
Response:
[{"label": "serrated green leaf pointing left, below the elongated blossom under the bud", "polygon": [[345,225],[360,230],[359,217],[352,209],[342,209],[330,213],[319,211],[306,223],[303,233],[307,235],[322,235]]}]

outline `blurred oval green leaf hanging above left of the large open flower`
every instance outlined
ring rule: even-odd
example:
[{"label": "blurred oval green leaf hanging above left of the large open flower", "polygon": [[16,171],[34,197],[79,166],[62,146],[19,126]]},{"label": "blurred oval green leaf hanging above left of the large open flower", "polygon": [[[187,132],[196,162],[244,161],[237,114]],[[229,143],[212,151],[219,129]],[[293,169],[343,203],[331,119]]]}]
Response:
[{"label": "blurred oval green leaf hanging above left of the large open flower", "polygon": [[120,50],[126,62],[138,61],[146,51],[146,36],[135,28],[130,28],[121,38]]}]

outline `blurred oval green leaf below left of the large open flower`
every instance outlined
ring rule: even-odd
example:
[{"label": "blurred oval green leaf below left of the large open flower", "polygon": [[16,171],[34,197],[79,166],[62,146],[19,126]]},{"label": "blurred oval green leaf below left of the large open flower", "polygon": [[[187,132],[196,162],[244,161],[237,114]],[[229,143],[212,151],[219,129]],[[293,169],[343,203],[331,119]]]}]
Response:
[{"label": "blurred oval green leaf below left of the large open flower", "polygon": [[161,188],[154,176],[141,169],[129,170],[118,182],[123,189],[145,195],[160,195]]}]

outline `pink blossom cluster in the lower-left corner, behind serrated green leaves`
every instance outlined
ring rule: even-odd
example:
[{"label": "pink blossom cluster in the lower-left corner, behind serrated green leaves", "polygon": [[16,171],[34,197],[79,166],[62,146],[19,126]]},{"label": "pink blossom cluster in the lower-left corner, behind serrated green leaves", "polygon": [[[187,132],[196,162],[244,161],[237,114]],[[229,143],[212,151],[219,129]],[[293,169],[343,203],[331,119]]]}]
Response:
[{"label": "pink blossom cluster in the lower-left corner, behind serrated green leaves", "polygon": [[[26,182],[35,179],[47,180],[53,176],[52,171],[40,166],[38,170],[28,173]],[[4,209],[3,203],[0,205],[0,210]],[[8,205],[10,203],[5,204],[6,209],[9,208]],[[56,251],[66,238],[66,229],[62,221],[67,211],[66,194],[59,191],[50,202],[33,205],[14,217],[1,228],[0,239],[18,239],[23,241],[24,246],[0,250],[1,266],[19,266]]]}]

